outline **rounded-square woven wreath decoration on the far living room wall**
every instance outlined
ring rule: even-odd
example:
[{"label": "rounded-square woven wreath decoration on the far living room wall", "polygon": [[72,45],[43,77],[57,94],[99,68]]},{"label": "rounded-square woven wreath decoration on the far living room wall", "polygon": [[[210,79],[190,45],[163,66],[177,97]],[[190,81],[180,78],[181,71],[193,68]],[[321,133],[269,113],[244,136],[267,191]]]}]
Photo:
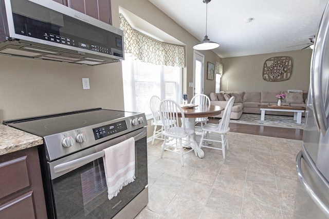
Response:
[{"label": "rounded-square woven wreath decoration on the far living room wall", "polygon": [[290,78],[293,61],[287,56],[268,58],[263,67],[263,79],[269,82],[286,81]]}]

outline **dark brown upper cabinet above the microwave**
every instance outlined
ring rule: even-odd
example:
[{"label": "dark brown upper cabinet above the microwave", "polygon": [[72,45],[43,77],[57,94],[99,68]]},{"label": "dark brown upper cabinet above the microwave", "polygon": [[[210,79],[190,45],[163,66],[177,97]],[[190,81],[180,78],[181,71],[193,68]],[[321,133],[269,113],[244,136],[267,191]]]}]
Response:
[{"label": "dark brown upper cabinet above the microwave", "polygon": [[112,25],[110,0],[53,0]]}]

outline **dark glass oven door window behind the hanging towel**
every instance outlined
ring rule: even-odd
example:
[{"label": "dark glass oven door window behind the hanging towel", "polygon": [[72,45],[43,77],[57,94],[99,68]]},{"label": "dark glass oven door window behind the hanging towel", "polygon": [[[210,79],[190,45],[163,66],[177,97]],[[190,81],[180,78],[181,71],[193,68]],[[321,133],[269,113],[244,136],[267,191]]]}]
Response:
[{"label": "dark glass oven door window behind the hanging towel", "polygon": [[99,158],[53,180],[57,218],[111,218],[148,184],[146,137],[135,142],[136,179],[108,200],[103,159]]}]

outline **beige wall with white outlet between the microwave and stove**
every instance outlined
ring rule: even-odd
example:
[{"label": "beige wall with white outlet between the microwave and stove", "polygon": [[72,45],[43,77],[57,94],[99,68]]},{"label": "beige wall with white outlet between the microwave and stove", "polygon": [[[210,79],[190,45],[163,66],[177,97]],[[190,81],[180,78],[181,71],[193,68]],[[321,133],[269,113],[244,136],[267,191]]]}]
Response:
[{"label": "beige wall with white outlet between the microwave and stove", "polygon": [[[0,55],[0,120],[103,107],[123,110],[121,63],[99,66]],[[89,90],[82,89],[88,77]]]}]

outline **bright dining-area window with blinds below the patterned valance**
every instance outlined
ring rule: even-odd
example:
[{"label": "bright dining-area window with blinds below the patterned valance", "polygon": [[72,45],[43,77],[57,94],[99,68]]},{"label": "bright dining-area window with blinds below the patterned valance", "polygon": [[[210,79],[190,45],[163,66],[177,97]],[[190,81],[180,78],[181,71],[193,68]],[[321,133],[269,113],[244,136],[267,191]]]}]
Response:
[{"label": "bright dining-area window with blinds below the patterned valance", "polygon": [[129,54],[122,62],[124,110],[144,112],[151,118],[150,99],[173,99],[180,103],[181,68],[143,63]]}]

